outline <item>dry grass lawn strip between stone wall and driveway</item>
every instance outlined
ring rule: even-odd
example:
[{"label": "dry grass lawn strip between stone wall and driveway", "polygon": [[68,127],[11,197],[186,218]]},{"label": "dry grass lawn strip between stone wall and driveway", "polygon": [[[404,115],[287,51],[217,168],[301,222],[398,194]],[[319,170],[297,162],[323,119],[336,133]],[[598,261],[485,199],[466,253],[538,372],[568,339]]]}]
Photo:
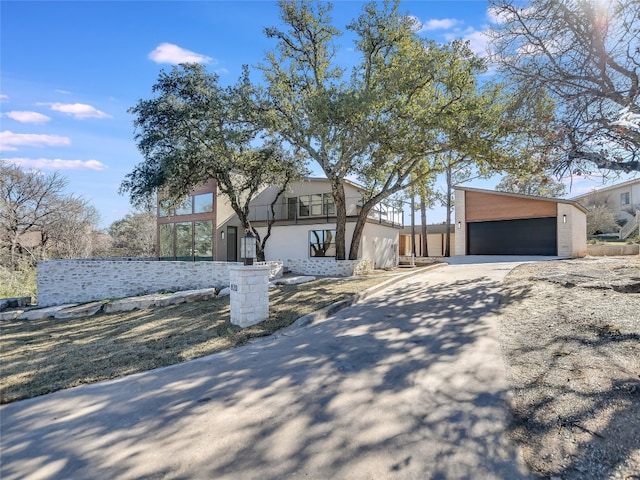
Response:
[{"label": "dry grass lawn strip between stone wall and driveway", "polygon": [[229,297],[98,314],[0,323],[0,403],[35,397],[210,355],[270,335],[297,318],[389,279],[320,279],[270,291],[269,319],[240,329]]}]

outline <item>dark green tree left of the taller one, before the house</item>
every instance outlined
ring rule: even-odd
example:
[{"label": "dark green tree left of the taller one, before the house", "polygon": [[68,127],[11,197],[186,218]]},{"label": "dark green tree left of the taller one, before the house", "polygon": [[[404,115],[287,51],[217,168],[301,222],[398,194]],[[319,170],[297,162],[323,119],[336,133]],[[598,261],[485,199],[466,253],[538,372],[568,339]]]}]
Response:
[{"label": "dark green tree left of the taller one, before the house", "polygon": [[153,92],[154,98],[129,110],[144,160],[126,176],[121,192],[129,192],[136,206],[157,193],[178,203],[214,178],[242,227],[258,239],[258,258],[264,259],[275,220],[261,239],[251,226],[249,203],[267,186],[278,187],[279,197],[304,170],[296,156],[264,136],[264,100],[248,69],[235,85],[223,88],[201,65],[183,64],[160,72]]}]

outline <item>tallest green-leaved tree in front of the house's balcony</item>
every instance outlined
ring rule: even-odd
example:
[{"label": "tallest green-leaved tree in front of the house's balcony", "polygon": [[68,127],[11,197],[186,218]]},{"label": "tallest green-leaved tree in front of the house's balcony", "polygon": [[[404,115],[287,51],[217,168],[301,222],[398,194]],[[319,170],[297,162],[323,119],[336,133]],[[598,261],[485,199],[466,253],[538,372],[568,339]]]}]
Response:
[{"label": "tallest green-leaved tree in front of the house's balcony", "polygon": [[398,2],[371,2],[347,26],[360,57],[347,70],[335,58],[342,33],[330,4],[283,0],[280,8],[285,28],[266,29],[277,45],[261,66],[269,127],[329,179],[337,258],[346,258],[346,178],[366,192],[349,250],[355,259],[373,207],[441,171],[440,153],[455,150],[483,168],[513,162],[505,137],[515,131],[507,120],[517,106],[502,87],[479,87],[486,66],[465,43],[425,40]]}]

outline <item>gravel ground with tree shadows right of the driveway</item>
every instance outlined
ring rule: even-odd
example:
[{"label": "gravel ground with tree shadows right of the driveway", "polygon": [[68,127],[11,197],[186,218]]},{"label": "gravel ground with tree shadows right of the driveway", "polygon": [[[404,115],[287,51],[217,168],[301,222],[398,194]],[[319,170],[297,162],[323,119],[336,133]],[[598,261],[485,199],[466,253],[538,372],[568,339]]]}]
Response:
[{"label": "gravel ground with tree shadows right of the driveway", "polygon": [[640,480],[640,257],[524,264],[500,340],[511,434],[552,480]]}]

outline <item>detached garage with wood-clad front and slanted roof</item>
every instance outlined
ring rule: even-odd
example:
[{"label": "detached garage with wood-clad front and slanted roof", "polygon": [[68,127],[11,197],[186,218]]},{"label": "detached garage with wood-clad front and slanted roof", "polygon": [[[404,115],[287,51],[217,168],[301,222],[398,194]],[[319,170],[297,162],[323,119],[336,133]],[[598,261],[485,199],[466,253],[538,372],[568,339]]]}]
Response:
[{"label": "detached garage with wood-clad front and slanted roof", "polygon": [[584,256],[586,209],[557,198],[456,188],[456,255]]}]

